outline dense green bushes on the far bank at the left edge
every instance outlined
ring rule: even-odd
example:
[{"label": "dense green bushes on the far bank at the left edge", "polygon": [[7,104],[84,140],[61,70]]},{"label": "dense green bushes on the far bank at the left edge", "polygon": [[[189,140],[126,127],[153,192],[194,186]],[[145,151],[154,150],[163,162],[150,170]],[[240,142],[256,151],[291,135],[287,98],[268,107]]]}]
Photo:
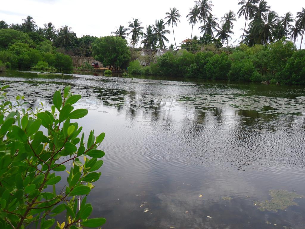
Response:
[{"label": "dense green bushes on the far bank at the left edge", "polygon": [[[24,33],[13,29],[0,30],[0,60],[11,67],[29,69],[44,61],[48,69],[71,70],[70,56],[59,53],[52,42],[34,33]],[[32,37],[33,39],[31,39]],[[43,70],[43,69],[41,69]]]}]

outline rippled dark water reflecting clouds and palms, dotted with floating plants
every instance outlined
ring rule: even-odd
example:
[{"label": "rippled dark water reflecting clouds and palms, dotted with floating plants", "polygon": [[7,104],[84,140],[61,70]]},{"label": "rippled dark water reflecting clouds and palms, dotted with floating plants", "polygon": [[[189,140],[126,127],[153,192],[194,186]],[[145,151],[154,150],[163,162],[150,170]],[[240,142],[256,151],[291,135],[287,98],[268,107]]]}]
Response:
[{"label": "rippled dark water reflecting clouds and palms, dotted with floating plants", "polygon": [[305,196],[302,86],[21,71],[0,79],[33,107],[50,109],[66,85],[82,95],[85,135],[106,133],[88,197],[102,228],[304,228],[305,198],[281,210],[269,194]]}]

